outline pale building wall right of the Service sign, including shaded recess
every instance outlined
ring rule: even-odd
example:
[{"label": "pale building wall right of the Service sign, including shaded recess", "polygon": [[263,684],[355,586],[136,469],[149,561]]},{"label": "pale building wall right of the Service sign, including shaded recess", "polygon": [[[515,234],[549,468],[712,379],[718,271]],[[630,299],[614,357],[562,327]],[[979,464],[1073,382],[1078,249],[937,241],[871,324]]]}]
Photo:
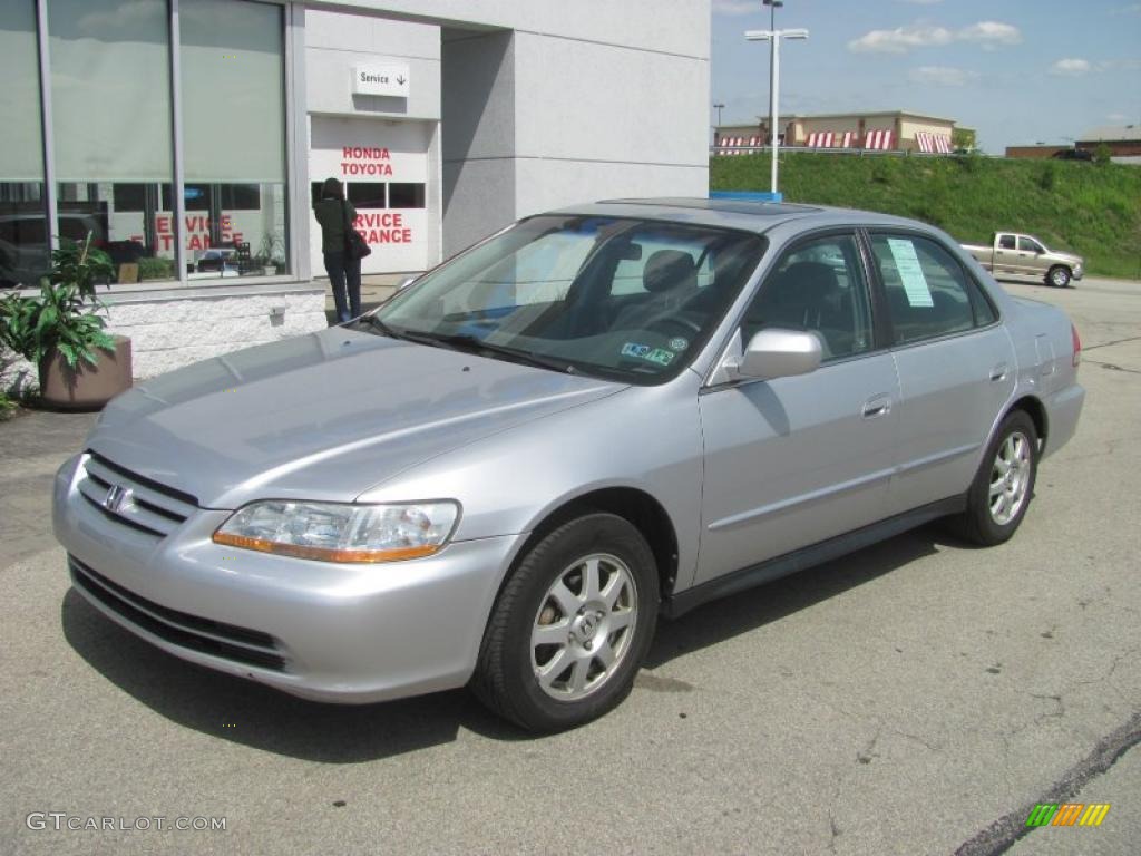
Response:
[{"label": "pale building wall right of the Service sign, including shaded recess", "polygon": [[445,256],[551,208],[709,192],[707,2],[415,6],[515,27],[443,33]]}]

